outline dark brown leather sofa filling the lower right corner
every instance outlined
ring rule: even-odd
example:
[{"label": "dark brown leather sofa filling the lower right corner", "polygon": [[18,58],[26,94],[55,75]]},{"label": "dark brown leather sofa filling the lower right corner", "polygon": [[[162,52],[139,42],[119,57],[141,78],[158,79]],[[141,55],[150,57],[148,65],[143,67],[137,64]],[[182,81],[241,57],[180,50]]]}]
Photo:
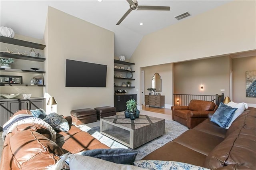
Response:
[{"label": "dark brown leather sofa filling the lower right corner", "polygon": [[228,128],[210,121],[154,150],[144,160],[171,160],[218,170],[256,168],[256,108],[249,107]]}]

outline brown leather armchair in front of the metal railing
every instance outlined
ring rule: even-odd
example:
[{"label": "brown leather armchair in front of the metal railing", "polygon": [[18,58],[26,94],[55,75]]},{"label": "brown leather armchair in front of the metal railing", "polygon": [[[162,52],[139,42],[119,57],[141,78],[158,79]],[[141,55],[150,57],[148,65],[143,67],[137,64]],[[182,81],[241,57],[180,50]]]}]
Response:
[{"label": "brown leather armchair in front of the metal railing", "polygon": [[194,128],[217,108],[218,106],[211,101],[191,100],[188,106],[172,106],[172,120],[188,128]]}]

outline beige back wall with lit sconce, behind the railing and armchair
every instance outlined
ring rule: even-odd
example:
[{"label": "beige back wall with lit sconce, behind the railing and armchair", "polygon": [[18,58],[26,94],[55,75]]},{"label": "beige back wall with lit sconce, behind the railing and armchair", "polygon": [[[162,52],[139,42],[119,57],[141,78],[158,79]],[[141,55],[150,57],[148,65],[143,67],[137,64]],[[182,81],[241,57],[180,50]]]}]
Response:
[{"label": "beige back wall with lit sconce, behind the railing and armchair", "polygon": [[174,63],[174,93],[230,96],[229,63],[229,56]]}]

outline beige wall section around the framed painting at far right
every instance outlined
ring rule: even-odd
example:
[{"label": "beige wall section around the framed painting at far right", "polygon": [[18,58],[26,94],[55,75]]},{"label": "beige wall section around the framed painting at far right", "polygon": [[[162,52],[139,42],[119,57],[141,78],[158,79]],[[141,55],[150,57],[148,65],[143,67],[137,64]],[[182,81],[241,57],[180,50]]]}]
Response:
[{"label": "beige wall section around the framed painting at far right", "polygon": [[256,107],[256,98],[246,97],[246,71],[256,71],[256,56],[234,58],[233,66],[233,101],[254,104]]}]

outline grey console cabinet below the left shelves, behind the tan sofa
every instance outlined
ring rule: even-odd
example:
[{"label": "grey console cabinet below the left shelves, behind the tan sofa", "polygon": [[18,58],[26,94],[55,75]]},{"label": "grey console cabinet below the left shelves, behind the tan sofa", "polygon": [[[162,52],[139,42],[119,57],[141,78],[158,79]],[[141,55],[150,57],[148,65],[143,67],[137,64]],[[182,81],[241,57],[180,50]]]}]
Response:
[{"label": "grey console cabinet below the left shelves, behind the tan sofa", "polygon": [[4,123],[6,123],[12,115],[21,109],[44,109],[45,98],[33,99],[1,99],[0,101],[0,126],[1,131]]}]

